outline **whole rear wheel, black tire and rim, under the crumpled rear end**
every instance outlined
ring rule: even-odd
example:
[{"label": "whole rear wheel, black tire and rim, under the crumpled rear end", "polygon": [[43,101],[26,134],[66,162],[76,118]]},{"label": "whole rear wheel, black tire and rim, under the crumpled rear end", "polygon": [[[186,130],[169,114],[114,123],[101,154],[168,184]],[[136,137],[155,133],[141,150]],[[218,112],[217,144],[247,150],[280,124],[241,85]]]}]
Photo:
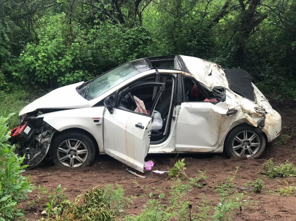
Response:
[{"label": "whole rear wheel, black tire and rim, under the crumpled rear end", "polygon": [[264,152],[266,139],[259,128],[241,125],[232,129],[226,137],[224,150],[229,157],[258,159]]}]

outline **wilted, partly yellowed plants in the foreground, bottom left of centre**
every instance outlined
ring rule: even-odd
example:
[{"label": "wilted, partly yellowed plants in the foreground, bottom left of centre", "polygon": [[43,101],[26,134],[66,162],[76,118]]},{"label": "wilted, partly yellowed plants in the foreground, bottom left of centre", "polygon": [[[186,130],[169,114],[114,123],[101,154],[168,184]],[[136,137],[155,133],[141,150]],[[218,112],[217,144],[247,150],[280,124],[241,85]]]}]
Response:
[{"label": "wilted, partly yellowed plants in the foreground, bottom left of centre", "polygon": [[[59,185],[55,194],[48,196],[50,201],[46,204],[48,217],[45,220],[113,220],[122,213],[126,203],[130,202],[130,199],[124,197],[124,189],[118,184],[116,189],[111,184],[104,189],[94,187],[74,201],[66,198]],[[51,204],[52,201],[54,204]]]}]

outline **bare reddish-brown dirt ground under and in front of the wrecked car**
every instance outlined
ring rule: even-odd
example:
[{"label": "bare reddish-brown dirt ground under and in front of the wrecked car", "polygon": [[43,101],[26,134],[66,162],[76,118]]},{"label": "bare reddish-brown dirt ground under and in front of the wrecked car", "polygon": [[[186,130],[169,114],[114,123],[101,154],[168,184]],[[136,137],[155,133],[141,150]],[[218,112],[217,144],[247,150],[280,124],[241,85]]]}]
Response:
[{"label": "bare reddish-brown dirt ground under and in front of the wrecked car", "polygon": [[[288,108],[279,111],[282,116],[283,127],[288,130],[295,127],[296,109]],[[290,160],[296,164],[296,139],[292,139],[287,144],[277,144],[266,148],[262,159],[228,159],[224,154],[187,154],[187,155],[148,155],[147,160],[155,162],[154,170],[168,170],[172,168],[176,160],[185,158],[186,175],[195,177],[198,175],[197,170],[206,171],[206,185],[202,188],[193,188],[190,193],[190,202],[192,208],[196,208],[197,204],[206,196],[211,199],[211,206],[219,203],[219,196],[214,189],[215,186],[226,177],[231,176],[230,172],[239,166],[238,175],[234,183],[237,186],[244,186],[248,181],[254,182],[257,178],[261,178],[266,189],[260,194],[249,192],[245,194],[244,200],[250,201],[246,207],[242,207],[242,211],[233,215],[233,220],[296,220],[296,197],[293,196],[277,196],[268,194],[268,190],[276,190],[279,186],[286,186],[288,181],[290,186],[295,186],[296,178],[264,178],[258,173],[262,169],[266,160],[273,158],[275,163],[283,163]],[[67,169],[59,168],[52,165],[51,162],[43,162],[40,166],[33,170],[25,172],[25,175],[31,175],[31,180],[38,186],[46,186],[46,189],[53,191],[58,184],[62,184],[62,188],[67,188],[65,194],[70,199],[74,199],[79,194],[84,193],[91,186],[104,186],[106,184],[118,183],[126,190],[126,196],[140,196],[133,199],[133,204],[129,205],[127,214],[136,215],[143,209],[141,206],[148,200],[148,194],[153,192],[153,188],[157,188],[163,192],[168,192],[172,181],[167,174],[155,174],[152,171],[145,171],[146,179],[135,177],[128,173],[125,169],[126,165],[107,156],[100,155],[96,158],[91,167],[83,169]],[[137,181],[140,186],[136,186],[133,182]],[[141,186],[149,185],[147,191]],[[39,194],[38,188],[30,193],[29,200],[34,199]],[[43,208],[33,208],[29,211],[25,219],[38,220],[40,212]]]}]

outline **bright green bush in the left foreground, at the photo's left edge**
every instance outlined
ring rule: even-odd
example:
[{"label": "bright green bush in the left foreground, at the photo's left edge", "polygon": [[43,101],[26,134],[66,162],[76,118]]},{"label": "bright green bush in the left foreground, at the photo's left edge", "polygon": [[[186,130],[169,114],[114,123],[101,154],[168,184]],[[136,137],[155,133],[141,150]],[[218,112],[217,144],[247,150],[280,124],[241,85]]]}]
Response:
[{"label": "bright green bush in the left foreground, at the photo's left edge", "polygon": [[33,186],[28,180],[29,177],[21,175],[24,168],[21,166],[24,157],[15,154],[15,145],[8,143],[9,131],[6,124],[9,117],[0,115],[0,220],[14,220],[14,217],[23,216],[20,209],[17,209],[21,199],[27,198]]}]

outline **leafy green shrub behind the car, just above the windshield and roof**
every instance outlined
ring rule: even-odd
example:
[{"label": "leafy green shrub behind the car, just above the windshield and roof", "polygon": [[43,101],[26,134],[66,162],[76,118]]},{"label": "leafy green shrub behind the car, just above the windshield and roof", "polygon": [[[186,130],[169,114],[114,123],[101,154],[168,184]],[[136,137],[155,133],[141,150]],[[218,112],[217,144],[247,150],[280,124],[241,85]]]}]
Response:
[{"label": "leafy green shrub behind the car, just above the windshield and roof", "polygon": [[[111,22],[98,23],[91,29],[93,55],[99,53],[104,61],[116,61],[122,64],[137,58],[159,55],[151,33],[145,27],[127,29]],[[96,55],[95,55],[96,54]]]}]

